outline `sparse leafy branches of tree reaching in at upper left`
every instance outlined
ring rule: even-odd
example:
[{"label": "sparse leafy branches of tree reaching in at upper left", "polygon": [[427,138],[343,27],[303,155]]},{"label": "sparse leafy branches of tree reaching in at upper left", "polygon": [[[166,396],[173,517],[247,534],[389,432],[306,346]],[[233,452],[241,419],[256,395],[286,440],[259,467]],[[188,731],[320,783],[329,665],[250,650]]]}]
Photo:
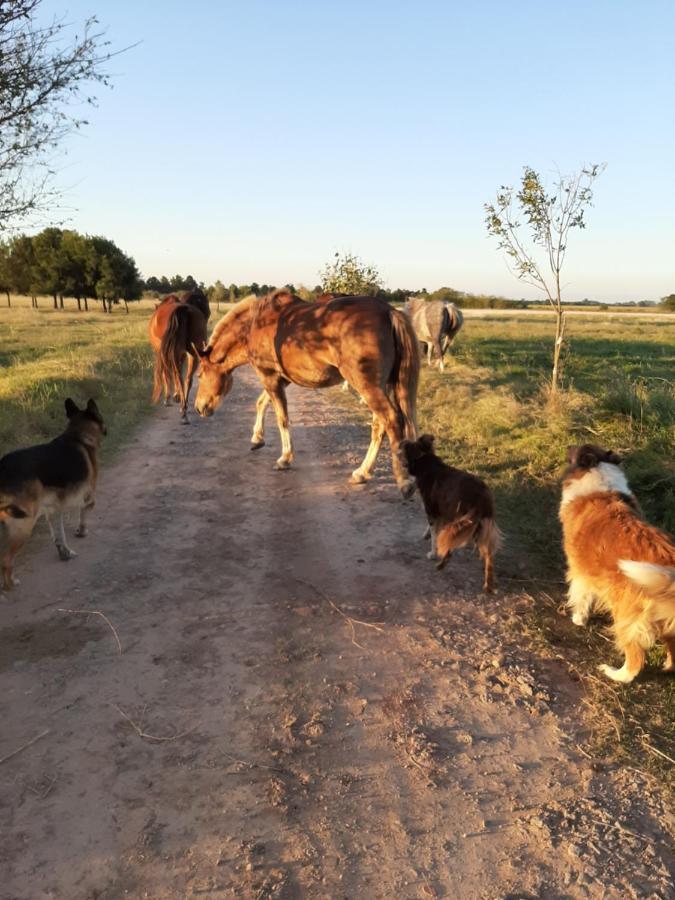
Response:
[{"label": "sparse leafy branches of tree reaching in at upper left", "polygon": [[50,22],[40,5],[0,0],[0,230],[54,197],[49,157],[86,124],[73,101],[91,104],[85,89],[108,84],[111,54],[96,19],[71,35],[67,20]]}]

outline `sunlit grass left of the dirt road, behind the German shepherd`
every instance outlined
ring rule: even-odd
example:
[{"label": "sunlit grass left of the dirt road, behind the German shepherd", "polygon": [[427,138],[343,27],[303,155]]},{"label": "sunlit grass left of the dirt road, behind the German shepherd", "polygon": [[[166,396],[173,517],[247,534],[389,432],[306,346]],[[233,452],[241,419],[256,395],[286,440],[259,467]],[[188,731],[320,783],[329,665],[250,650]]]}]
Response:
[{"label": "sunlit grass left of the dirt road, behind the German shepherd", "polygon": [[0,456],[60,434],[66,397],[99,404],[104,460],[128,439],[151,408],[148,315],[0,308]]}]

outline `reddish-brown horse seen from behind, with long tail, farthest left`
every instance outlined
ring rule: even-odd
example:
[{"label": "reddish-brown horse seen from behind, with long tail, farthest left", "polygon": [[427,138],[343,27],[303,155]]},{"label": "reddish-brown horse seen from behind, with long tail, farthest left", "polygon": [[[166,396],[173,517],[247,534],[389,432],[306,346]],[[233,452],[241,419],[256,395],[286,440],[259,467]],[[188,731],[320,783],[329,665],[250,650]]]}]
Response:
[{"label": "reddish-brown horse seen from behind, with long tail, farthest left", "polygon": [[[187,404],[192,387],[197,357],[193,345],[203,347],[207,341],[206,326],[211,315],[209,301],[199,288],[181,298],[169,294],[155,307],[149,323],[150,343],[155,351],[155,378],[152,393],[157,403],[164,390],[164,402],[171,402],[170,384],[173,380],[174,400],[180,402],[181,418],[187,423]],[[183,361],[187,369],[183,377]]]}]

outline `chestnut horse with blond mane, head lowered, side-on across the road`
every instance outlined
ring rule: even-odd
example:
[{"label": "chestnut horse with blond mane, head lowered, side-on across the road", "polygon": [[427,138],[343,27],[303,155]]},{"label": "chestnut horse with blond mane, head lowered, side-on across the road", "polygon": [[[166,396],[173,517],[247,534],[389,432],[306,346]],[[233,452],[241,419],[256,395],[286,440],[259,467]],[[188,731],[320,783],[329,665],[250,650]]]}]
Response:
[{"label": "chestnut horse with blond mane, head lowered, side-on across the road", "polygon": [[229,392],[233,369],[253,366],[265,390],[256,404],[251,449],[265,443],[265,410],[272,403],[281,434],[278,469],[287,469],[293,460],[286,385],[323,388],[346,379],[373,413],[370,446],[352,481],[370,478],[386,431],[396,482],[404,496],[414,490],[398,447],[416,435],[419,349],[410,320],[385,301],[341,297],[305,303],[288,291],[275,291],[238,303],[198,352],[195,409],[202,416],[212,415]]}]

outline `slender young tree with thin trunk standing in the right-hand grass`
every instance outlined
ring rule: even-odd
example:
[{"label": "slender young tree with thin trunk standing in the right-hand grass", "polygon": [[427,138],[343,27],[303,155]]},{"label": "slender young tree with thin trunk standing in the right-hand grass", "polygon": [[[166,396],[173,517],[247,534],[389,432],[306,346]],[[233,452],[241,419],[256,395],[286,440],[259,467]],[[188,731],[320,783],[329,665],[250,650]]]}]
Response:
[{"label": "slender young tree with thin trunk standing in the right-hand grass", "polygon": [[[542,291],[555,312],[551,389],[560,386],[560,353],[565,336],[561,272],[570,232],[585,228],[593,185],[604,166],[592,165],[571,176],[559,176],[552,193],[541,177],[525,167],[520,188],[502,187],[494,203],[485,204],[486,225],[507,256],[513,274]],[[529,240],[522,226],[529,229]]]}]

